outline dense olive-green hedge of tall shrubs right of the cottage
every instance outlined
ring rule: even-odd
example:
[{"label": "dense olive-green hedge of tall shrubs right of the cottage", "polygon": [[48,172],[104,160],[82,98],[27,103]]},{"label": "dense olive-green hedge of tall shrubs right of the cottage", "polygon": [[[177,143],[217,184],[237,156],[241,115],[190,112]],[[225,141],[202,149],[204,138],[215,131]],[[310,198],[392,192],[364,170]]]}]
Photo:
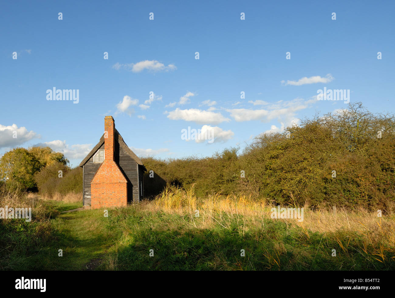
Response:
[{"label": "dense olive-green hedge of tall shrubs right of the cottage", "polygon": [[394,208],[393,115],[372,114],[354,103],[287,130],[259,135],[242,153],[230,148],[202,159],[143,162],[168,185],[194,184],[198,196],[246,193],[299,206]]}]

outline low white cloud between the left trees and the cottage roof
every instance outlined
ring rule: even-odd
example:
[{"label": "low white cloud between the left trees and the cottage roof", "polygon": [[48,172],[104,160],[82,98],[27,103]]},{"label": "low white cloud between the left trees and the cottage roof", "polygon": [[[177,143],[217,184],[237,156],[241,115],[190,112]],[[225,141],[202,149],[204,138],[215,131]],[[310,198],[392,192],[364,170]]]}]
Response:
[{"label": "low white cloud between the left trees and the cottage roof", "polygon": [[62,152],[68,159],[83,159],[85,158],[90,150],[92,150],[92,144],[75,144],[68,145],[66,141],[55,140],[51,142],[42,142],[34,145],[41,147],[49,147],[55,152]]}]

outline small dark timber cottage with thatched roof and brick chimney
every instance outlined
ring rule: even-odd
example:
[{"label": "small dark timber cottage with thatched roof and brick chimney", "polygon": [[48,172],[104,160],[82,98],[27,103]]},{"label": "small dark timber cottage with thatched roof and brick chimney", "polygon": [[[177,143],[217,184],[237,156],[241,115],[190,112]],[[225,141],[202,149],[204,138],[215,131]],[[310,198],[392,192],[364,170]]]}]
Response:
[{"label": "small dark timber cottage with thatched roof and brick chimney", "polygon": [[143,199],[147,169],[115,129],[112,116],[105,116],[104,134],[79,166],[83,169],[84,206],[125,206]]}]

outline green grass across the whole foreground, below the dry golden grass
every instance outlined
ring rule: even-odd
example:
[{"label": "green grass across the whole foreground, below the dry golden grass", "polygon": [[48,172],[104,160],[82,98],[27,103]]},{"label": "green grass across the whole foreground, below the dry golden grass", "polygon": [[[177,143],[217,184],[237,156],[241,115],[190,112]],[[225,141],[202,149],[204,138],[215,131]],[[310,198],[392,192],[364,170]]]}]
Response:
[{"label": "green grass across the whole foreground, below the dry golden grass", "polygon": [[[47,204],[58,211],[79,206]],[[96,270],[395,269],[393,252],[384,254],[385,262],[361,252],[363,240],[357,232],[306,233],[292,223],[287,228],[284,222],[267,218],[261,226],[243,226],[242,216],[222,221],[227,228],[213,223],[203,229],[201,220],[137,204],[109,210],[108,217],[103,210],[83,210],[31,223],[2,220],[0,269],[86,270],[92,260],[98,261]],[[349,243],[346,251],[336,239]],[[336,257],[331,256],[332,249]]]}]

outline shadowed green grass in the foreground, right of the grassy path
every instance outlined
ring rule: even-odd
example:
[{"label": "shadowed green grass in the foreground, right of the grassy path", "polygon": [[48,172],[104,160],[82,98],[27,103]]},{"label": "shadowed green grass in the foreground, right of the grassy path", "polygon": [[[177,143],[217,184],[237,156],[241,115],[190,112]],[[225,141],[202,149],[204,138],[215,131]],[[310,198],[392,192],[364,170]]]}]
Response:
[{"label": "shadowed green grass in the foreground, right of the grassy path", "polygon": [[[337,235],[339,236],[339,235]],[[350,245],[342,252],[334,237],[308,236],[268,220],[265,230],[140,229],[106,259],[110,270],[393,270]],[[357,239],[355,239],[357,241]],[[356,244],[355,244],[356,245]],[[332,256],[332,249],[337,256]],[[245,256],[243,257],[243,251]],[[391,254],[387,254],[389,260]],[[113,266],[110,266],[112,264]]]}]

